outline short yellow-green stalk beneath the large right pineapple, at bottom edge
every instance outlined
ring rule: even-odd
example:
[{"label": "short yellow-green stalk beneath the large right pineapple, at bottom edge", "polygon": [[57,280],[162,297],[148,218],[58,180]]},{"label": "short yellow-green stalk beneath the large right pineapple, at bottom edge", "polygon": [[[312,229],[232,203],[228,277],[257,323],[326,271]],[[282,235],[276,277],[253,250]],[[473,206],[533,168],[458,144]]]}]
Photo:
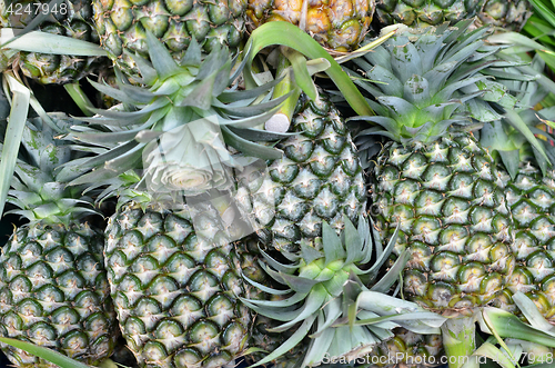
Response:
[{"label": "short yellow-green stalk beneath the large right pineapple, at bottom edge", "polygon": [[458,315],[447,319],[441,329],[450,368],[461,368],[476,350],[476,319]]}]

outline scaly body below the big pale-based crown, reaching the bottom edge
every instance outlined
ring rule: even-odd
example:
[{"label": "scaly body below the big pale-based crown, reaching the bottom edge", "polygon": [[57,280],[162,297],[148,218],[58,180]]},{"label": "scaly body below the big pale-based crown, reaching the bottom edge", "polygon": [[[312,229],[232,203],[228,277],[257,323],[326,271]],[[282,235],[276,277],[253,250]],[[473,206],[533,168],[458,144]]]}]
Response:
[{"label": "scaly body below the big pale-based crown, reaching the bottom edge", "polygon": [[221,367],[248,345],[250,311],[238,257],[213,212],[114,213],[105,261],[120,328],[140,367]]}]

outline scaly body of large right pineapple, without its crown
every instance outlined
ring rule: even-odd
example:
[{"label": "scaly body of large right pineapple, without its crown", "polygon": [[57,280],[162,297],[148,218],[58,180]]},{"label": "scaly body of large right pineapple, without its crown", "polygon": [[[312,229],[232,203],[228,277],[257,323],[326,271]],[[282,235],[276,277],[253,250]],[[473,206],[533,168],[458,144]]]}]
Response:
[{"label": "scaly body of large right pineapple, without its crown", "polygon": [[501,177],[474,137],[390,142],[376,161],[376,227],[389,238],[400,223],[394,252],[412,253],[403,276],[408,299],[441,311],[502,297],[515,267],[513,222]]}]

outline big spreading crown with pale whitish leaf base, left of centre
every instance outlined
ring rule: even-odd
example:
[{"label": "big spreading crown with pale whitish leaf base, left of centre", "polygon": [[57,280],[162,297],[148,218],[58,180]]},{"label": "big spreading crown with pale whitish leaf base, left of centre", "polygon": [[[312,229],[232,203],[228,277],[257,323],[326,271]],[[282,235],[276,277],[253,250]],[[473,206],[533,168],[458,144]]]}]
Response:
[{"label": "big spreading crown with pale whitish leaf base, left of centre", "polygon": [[[229,168],[242,167],[242,153],[276,159],[282,152],[261,141],[286,137],[260,130],[289,97],[271,99],[280,81],[239,90],[242,66],[233,69],[229,50],[214,46],[203,57],[192,40],[181,64],[157,38],[148,32],[149,60],[130,56],[139,67],[144,87],[125,81],[118,72],[119,88],[91,82],[97,89],[123,102],[118,109],[91,109],[97,117],[82,119],[71,138],[83,149],[93,150],[91,159],[64,168],[71,185],[98,186],[129,170],[144,170],[143,181],[153,191],[196,195],[229,185]],[[256,142],[254,142],[256,141]],[[91,172],[87,171],[93,169]]]}]

